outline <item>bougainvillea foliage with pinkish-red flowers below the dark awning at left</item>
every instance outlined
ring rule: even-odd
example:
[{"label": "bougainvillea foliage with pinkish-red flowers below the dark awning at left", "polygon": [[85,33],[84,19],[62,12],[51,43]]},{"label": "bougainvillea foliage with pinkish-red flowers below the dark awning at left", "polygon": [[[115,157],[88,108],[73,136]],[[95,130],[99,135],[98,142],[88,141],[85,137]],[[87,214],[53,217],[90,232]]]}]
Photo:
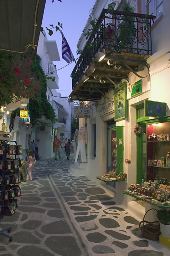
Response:
[{"label": "bougainvillea foliage with pinkish-red flowers below the dark awning at left", "polygon": [[0,105],[38,97],[40,82],[31,72],[31,65],[24,55],[0,52]]}]

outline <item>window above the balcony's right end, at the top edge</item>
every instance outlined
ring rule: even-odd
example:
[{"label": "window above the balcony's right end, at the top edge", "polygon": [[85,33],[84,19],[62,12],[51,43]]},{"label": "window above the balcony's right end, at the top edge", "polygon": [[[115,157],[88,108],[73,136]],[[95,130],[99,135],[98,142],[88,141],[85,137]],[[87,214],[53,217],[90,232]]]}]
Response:
[{"label": "window above the balcony's right end, at the top edge", "polygon": [[[142,1],[144,3],[144,1]],[[145,0],[144,13],[155,15],[158,19],[163,14],[163,0]]]}]

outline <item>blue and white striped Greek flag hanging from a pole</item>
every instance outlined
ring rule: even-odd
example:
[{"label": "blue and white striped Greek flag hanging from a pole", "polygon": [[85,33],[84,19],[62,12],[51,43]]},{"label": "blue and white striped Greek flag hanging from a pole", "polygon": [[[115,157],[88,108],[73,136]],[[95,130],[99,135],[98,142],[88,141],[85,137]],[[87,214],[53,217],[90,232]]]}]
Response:
[{"label": "blue and white striped Greek flag hanging from a pole", "polygon": [[71,61],[75,61],[74,56],[71,52],[70,46],[68,45],[67,40],[65,39],[64,34],[61,30],[60,30],[60,33],[62,34],[62,58],[65,61],[67,61],[67,63],[70,63]]}]

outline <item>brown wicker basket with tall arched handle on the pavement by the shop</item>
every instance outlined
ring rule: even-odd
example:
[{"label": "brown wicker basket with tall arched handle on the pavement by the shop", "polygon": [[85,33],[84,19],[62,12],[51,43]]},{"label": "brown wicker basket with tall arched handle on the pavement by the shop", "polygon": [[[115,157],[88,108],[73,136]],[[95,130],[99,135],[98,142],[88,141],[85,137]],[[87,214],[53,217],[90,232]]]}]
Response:
[{"label": "brown wicker basket with tall arched handle on the pavement by the shop", "polygon": [[139,223],[139,228],[142,232],[142,236],[146,239],[150,239],[150,240],[159,240],[159,235],[160,235],[160,226],[159,226],[159,222],[158,221],[154,221],[154,222],[148,222],[145,221],[145,216],[146,214],[150,211],[150,210],[155,210],[156,209],[152,208],[149,209],[145,215],[143,216],[143,221],[141,221]]}]

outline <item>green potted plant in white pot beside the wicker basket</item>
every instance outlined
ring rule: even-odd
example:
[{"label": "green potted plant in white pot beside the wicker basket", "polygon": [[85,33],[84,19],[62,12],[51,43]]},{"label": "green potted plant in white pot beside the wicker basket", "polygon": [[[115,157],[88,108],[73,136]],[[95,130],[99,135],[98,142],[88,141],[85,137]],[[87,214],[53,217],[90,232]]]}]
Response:
[{"label": "green potted plant in white pot beside the wicker basket", "polygon": [[170,238],[170,210],[160,209],[157,211],[156,216],[160,223],[160,232],[162,236]]}]

